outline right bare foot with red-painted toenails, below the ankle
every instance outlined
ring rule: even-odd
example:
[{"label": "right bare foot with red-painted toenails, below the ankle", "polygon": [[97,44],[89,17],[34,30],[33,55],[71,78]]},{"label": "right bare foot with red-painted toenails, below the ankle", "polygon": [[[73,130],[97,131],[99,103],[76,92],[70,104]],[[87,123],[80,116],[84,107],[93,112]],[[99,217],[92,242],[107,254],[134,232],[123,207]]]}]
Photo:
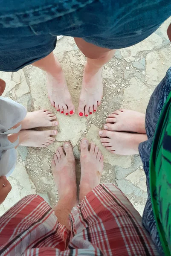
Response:
[{"label": "right bare foot with red-painted toenails, below the ankle", "polygon": [[103,83],[100,69],[95,75],[86,72],[84,69],[83,82],[78,106],[79,116],[89,116],[97,111],[103,96]]}]

